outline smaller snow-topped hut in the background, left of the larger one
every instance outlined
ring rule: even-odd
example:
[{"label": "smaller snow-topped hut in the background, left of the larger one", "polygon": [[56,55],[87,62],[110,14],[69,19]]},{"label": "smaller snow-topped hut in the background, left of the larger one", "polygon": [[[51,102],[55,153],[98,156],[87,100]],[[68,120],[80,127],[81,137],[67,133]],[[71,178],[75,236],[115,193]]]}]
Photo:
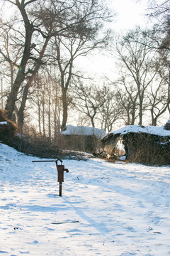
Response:
[{"label": "smaller snow-topped hut in the background, left of the larger one", "polygon": [[67,125],[61,134],[65,149],[86,151],[92,154],[98,151],[101,145],[101,138],[105,136],[105,132],[102,129],[72,125]]}]

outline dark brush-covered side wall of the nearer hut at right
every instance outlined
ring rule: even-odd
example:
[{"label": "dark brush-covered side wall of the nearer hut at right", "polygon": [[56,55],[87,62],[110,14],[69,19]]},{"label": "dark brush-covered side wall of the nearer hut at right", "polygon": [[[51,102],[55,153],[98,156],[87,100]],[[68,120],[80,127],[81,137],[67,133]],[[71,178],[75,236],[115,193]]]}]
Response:
[{"label": "dark brush-covered side wall of the nearer hut at right", "polygon": [[154,134],[132,133],[123,135],[126,159],[149,165],[170,164],[170,137]]}]

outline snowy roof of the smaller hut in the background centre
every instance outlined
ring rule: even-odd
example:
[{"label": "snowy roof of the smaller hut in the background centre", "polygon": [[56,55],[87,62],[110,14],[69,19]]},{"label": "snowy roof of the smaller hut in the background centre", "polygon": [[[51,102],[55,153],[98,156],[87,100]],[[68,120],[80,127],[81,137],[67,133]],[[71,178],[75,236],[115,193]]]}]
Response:
[{"label": "snowy roof of the smaller hut in the background centre", "polygon": [[103,129],[98,129],[94,127],[85,127],[85,126],[73,126],[67,125],[65,131],[62,131],[64,135],[95,135],[98,138],[102,138],[105,136],[105,132]]}]

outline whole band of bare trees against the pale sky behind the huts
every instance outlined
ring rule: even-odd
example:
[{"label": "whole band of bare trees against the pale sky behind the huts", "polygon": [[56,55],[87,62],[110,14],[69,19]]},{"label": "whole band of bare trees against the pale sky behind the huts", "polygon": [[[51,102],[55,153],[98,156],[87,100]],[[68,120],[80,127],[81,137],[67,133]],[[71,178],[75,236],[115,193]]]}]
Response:
[{"label": "whole band of bare trees against the pale sky behind the huts", "polygon": [[[31,124],[53,138],[75,119],[106,132],[115,124],[159,124],[169,115],[169,7],[151,2],[149,16],[159,22],[119,36],[106,26],[115,16],[107,1],[3,1],[2,9],[13,8],[0,19],[1,107],[8,119],[15,114],[20,131]],[[76,65],[95,50],[107,50],[118,73],[100,85]]]}]

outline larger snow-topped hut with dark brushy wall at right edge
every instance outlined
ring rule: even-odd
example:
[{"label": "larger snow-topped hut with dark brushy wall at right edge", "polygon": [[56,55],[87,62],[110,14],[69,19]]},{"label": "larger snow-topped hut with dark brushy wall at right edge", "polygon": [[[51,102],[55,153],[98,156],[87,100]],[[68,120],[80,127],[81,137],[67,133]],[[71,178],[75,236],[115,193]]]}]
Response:
[{"label": "larger snow-topped hut with dark brushy wall at right edge", "polygon": [[170,122],[164,127],[130,125],[110,132],[101,143],[109,157],[122,139],[126,159],[143,164],[170,164]]}]

